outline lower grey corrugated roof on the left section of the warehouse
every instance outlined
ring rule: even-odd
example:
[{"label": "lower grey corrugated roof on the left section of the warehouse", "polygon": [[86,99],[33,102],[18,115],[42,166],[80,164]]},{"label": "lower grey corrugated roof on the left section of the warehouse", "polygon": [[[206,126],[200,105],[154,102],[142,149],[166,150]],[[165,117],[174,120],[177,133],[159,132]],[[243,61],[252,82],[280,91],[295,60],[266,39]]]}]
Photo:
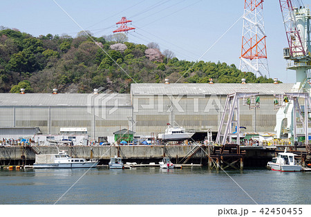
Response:
[{"label": "lower grey corrugated roof on the left section of the warehouse", "polygon": [[101,105],[114,106],[117,100],[118,106],[131,106],[131,95],[120,93],[0,93],[0,106],[88,106],[94,100]]}]

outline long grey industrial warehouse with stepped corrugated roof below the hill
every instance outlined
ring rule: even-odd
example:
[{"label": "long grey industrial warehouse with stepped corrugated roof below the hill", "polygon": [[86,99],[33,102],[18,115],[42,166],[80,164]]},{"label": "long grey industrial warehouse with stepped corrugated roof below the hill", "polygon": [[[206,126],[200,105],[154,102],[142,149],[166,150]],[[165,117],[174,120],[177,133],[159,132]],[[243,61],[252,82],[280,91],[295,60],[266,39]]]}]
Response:
[{"label": "long grey industrial warehouse with stepped corrugated roof below the hill", "polygon": [[121,129],[148,138],[163,133],[167,124],[201,133],[203,139],[207,131],[215,137],[229,93],[258,93],[260,106],[241,106],[241,126],[245,133],[274,133],[276,95],[293,86],[275,83],[131,84],[130,94],[100,89],[89,94],[1,93],[0,138],[87,135],[90,141],[113,143]]}]

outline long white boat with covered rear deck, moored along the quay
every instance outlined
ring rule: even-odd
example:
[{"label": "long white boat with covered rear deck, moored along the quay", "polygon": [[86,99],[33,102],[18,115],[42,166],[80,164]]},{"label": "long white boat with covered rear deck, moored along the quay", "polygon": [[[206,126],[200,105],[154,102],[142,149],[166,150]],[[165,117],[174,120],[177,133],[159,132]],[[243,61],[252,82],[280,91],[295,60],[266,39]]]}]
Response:
[{"label": "long white boat with covered rear deck, moored along the quay", "polygon": [[36,154],[33,168],[90,168],[97,164],[97,159],[72,158],[66,151],[61,151],[57,154]]}]

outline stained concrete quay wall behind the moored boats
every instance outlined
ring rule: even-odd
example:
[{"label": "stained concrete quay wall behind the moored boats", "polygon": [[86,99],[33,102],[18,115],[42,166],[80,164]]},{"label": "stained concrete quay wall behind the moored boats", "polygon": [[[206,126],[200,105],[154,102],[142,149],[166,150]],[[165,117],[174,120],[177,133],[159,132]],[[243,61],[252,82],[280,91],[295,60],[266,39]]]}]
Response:
[{"label": "stained concrete quay wall behind the moored boats", "polygon": [[[70,156],[75,158],[99,158],[102,160],[109,160],[111,157],[117,155],[117,149],[120,149],[120,157],[127,160],[137,159],[158,159],[164,155],[164,146],[100,146],[100,147],[58,147],[59,151],[66,150]],[[171,158],[183,158],[193,149],[194,146],[185,145],[166,145],[165,155]],[[21,147],[21,146],[7,146],[0,147],[0,160],[22,160],[25,156],[26,160],[35,160],[35,154],[55,154],[58,153],[57,147]],[[204,155],[198,152],[194,158],[202,158]]]}]

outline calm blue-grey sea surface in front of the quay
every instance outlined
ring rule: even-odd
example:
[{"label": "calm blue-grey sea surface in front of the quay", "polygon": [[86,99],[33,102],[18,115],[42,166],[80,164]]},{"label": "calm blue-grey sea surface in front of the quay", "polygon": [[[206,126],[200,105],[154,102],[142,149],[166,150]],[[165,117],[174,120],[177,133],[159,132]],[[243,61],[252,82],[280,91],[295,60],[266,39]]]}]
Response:
[{"label": "calm blue-grey sea surface in front of the quay", "polygon": [[[54,204],[88,169],[0,171],[0,204]],[[311,173],[89,169],[57,204],[310,204]],[[246,192],[238,187],[238,183]]]}]

